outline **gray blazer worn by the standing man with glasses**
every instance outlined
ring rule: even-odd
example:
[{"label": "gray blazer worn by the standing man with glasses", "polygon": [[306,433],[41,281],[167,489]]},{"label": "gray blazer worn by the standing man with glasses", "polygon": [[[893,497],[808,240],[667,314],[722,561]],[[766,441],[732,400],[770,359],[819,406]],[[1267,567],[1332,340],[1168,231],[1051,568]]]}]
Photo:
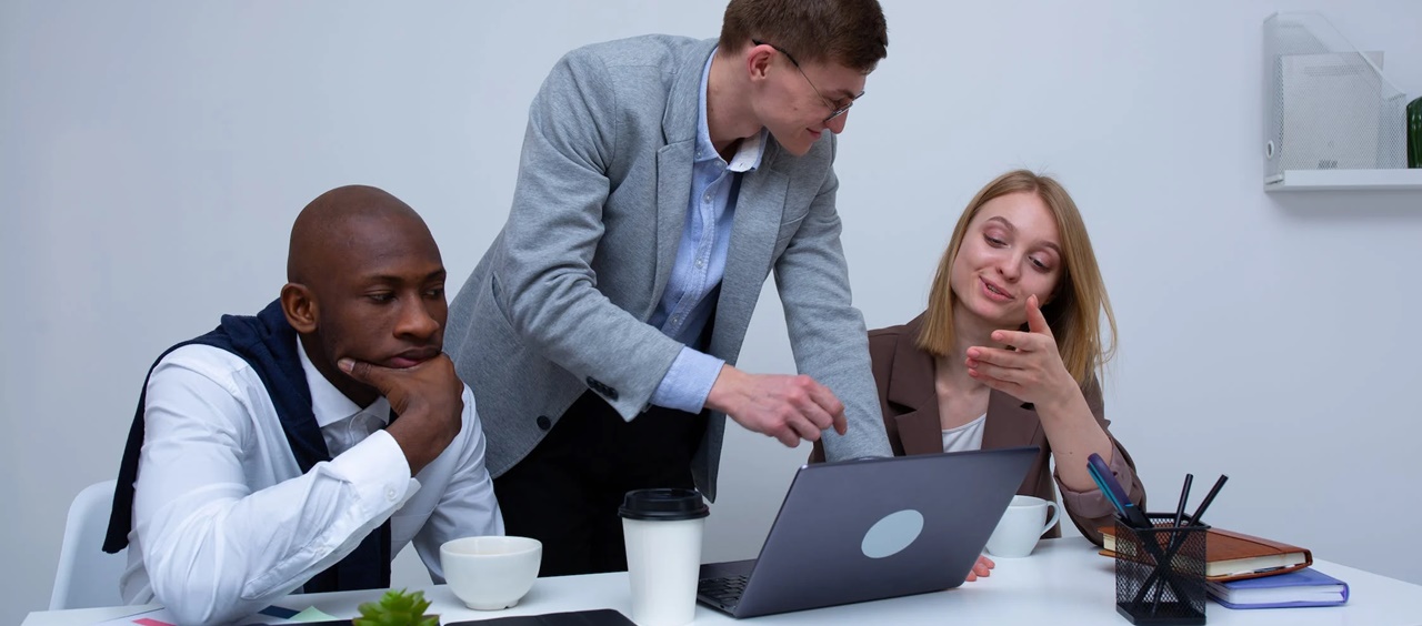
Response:
[{"label": "gray blazer worn by the standing man with glasses", "polygon": [[[681,351],[646,322],[685,224],[714,48],[667,35],[589,45],[565,55],[533,99],[509,219],[451,304],[445,335],[478,399],[493,476],[587,389],[634,419]],[[771,139],[744,175],[707,352],[735,363],[774,270],[798,369],[846,406],[849,434],[826,433],[829,457],[889,456],[850,305],[833,158],[833,136],[802,158]],[[724,430],[712,413],[693,461],[711,498]]]}]

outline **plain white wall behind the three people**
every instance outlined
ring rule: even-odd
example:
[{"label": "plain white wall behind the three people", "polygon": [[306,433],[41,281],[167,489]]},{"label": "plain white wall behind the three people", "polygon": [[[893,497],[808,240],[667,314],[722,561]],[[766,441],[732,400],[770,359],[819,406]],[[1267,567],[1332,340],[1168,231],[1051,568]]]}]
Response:
[{"label": "plain white wall behind the three people", "polygon": [[[114,476],[152,358],[276,295],[306,202],[385,187],[458,284],[508,213],[552,62],[640,33],[712,37],[721,9],[0,6],[0,554],[20,572],[0,622],[47,603],[65,507]],[[1186,471],[1226,473],[1209,521],[1422,582],[1422,192],[1260,190],[1261,21],[1285,9],[1324,10],[1422,92],[1422,4],[1405,0],[889,1],[890,55],[839,162],[856,301],[870,326],[917,314],[967,199],[1047,169],[1111,285],[1108,416],[1152,504]],[[768,290],[751,370],[792,368],[778,308]],[[755,554],[805,453],[731,434],[708,558]]]}]

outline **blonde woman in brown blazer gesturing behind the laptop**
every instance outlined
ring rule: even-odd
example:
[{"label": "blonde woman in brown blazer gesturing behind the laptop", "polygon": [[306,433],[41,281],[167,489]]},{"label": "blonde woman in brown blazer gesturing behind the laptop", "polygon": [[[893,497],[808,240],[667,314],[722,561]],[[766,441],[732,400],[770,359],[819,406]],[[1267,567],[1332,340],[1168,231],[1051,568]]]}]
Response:
[{"label": "blonde woman in brown blazer gesturing behind the laptop", "polygon": [[[869,332],[894,454],[1037,446],[1018,493],[1055,500],[1059,490],[1076,528],[1101,545],[1096,528],[1113,511],[1086,457],[1101,454],[1142,508],[1146,498],[1102,410],[1096,375],[1112,352],[1102,318],[1113,339],[1106,287],[1071,196],[1047,176],[998,176],[953,229],[927,311]],[[820,458],[816,450],[812,460]]]}]

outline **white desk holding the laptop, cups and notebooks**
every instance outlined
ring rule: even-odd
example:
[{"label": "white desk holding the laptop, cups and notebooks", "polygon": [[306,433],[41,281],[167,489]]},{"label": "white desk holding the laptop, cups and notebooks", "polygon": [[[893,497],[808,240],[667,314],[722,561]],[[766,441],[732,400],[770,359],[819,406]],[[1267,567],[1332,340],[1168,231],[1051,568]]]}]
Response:
[{"label": "white desk holding the laptop, cups and notebooks", "polygon": [[[737,622],[729,616],[697,606],[698,625],[744,623],[771,625],[940,625],[940,623],[1051,623],[1051,625],[1128,625],[1116,613],[1115,569],[1109,558],[1081,538],[1042,541],[1032,556],[998,559],[987,579],[957,589],[889,600],[863,602],[798,613],[771,615]],[[1422,585],[1412,585],[1327,561],[1314,566],[1348,582],[1351,598],[1344,606],[1308,609],[1230,610],[1206,603],[1210,626],[1229,625],[1422,625]],[[334,616],[356,616],[356,606],[378,598],[380,592],[337,592],[292,596],[282,606],[316,606]],[[445,586],[425,589],[432,600],[429,613],[439,613],[442,623],[489,619],[510,615],[556,613],[611,608],[631,615],[626,573],[540,578],[533,591],[513,609],[481,612],[466,609]],[[149,606],[152,608],[152,606]],[[144,608],[122,606],[34,612],[24,626],[92,625],[105,619],[132,615]]]}]

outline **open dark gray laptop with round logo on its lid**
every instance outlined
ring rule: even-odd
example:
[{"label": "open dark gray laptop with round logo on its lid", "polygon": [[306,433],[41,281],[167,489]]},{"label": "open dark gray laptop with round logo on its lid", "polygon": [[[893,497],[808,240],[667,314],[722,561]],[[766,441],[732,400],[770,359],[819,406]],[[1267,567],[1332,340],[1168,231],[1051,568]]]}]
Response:
[{"label": "open dark gray laptop with round logo on its lid", "polygon": [[702,565],[697,600],[754,617],[963,585],[1037,453],[801,467],[759,558]]}]

